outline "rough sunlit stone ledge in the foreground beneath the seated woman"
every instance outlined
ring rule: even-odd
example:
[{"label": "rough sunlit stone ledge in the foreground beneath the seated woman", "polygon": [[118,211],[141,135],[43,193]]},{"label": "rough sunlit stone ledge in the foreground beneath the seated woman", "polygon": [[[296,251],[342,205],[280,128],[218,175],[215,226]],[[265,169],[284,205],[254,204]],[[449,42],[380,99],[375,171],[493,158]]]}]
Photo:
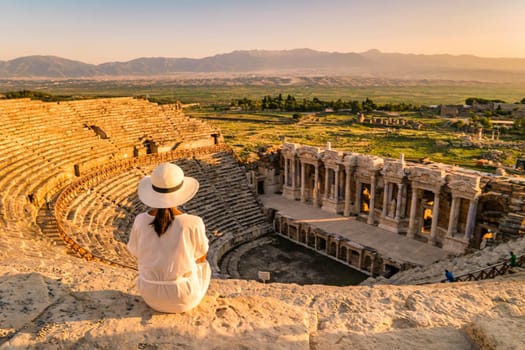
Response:
[{"label": "rough sunlit stone ledge in the foreground beneath the seated woman", "polygon": [[[135,273],[74,258],[0,262],[1,349],[520,349],[525,281],[329,287],[212,280],[184,314]],[[13,259],[14,260],[14,259]]]}]

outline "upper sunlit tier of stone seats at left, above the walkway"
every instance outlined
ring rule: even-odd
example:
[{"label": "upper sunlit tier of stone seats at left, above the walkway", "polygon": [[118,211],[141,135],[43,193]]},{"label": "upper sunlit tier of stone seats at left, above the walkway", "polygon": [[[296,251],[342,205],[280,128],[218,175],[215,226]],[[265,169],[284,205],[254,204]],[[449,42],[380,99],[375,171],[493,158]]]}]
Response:
[{"label": "upper sunlit tier of stone seats at left, above the walkway", "polygon": [[[75,165],[86,173],[125,155],[132,157],[132,146],[140,145],[135,140],[139,133],[149,133],[155,141],[155,132],[165,131],[166,140],[178,143],[183,140],[174,130],[185,130],[185,123],[194,129],[188,139],[199,135],[211,139],[215,132],[206,124],[188,119],[180,110],[132,98],[60,103],[0,100],[0,117],[0,220],[8,223],[4,231],[28,232],[31,238],[38,236],[38,231],[26,228],[34,228],[37,207],[74,178]],[[90,121],[97,125],[97,118],[108,123],[111,119],[114,129],[120,130],[118,137],[102,139],[89,128]],[[168,119],[174,126],[160,127]],[[141,131],[145,126],[149,128]],[[134,136],[128,142],[129,134]],[[33,203],[29,203],[30,194]],[[131,201],[130,205],[136,212],[137,203]]]}]

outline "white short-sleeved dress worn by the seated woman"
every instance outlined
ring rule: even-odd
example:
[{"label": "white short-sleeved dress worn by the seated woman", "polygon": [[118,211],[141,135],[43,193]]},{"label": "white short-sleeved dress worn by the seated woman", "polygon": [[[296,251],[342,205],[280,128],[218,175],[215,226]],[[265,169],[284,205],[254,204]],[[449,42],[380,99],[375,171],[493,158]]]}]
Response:
[{"label": "white short-sleeved dress worn by the seated woman", "polygon": [[137,288],[151,308],[161,312],[184,312],[196,307],[208,290],[211,268],[196,259],[208,252],[202,219],[177,215],[168,230],[158,236],[148,213],[137,215],[128,250],[137,257]]}]

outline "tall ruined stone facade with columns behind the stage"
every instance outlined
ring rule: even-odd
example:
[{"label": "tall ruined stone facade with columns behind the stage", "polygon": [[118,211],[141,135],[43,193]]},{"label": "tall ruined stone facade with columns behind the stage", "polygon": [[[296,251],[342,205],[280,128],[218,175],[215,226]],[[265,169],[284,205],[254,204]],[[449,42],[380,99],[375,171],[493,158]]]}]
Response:
[{"label": "tall ruined stone facade with columns behind the stage", "polygon": [[284,197],[454,253],[478,248],[488,229],[499,240],[525,234],[523,178],[329,146],[285,143],[281,156]]}]

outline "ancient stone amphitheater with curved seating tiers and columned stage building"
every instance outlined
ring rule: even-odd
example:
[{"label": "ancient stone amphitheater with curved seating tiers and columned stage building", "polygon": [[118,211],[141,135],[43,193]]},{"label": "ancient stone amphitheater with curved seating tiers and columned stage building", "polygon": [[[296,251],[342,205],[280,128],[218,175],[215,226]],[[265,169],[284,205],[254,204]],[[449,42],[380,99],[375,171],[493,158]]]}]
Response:
[{"label": "ancient stone amphitheater with curved seating tiers and columned stage building", "polygon": [[[439,283],[444,268],[468,273],[525,254],[519,179],[294,144],[246,172],[219,130],[178,105],[133,98],[0,100],[0,117],[2,349],[524,348],[521,269]],[[349,287],[216,278],[196,309],[152,312],[125,244],[145,209],[136,183],[162,161],[201,183],[184,209],[206,222],[217,277],[235,265],[221,266],[226,252],[275,229],[376,278]],[[353,226],[334,232],[333,222]],[[488,229],[500,245],[445,258],[477,248]]]}]

